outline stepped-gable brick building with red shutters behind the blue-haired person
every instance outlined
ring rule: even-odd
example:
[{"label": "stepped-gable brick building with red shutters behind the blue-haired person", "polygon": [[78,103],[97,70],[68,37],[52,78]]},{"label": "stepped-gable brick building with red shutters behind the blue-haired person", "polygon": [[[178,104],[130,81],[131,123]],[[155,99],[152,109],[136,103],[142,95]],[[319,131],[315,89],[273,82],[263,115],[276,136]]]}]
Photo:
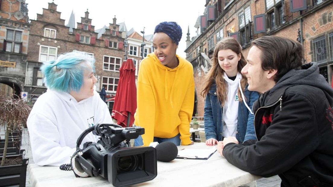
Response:
[{"label": "stepped-gable brick building with red shutters behind the blue-haired person", "polygon": [[[102,32],[95,32],[88,10],[77,28],[65,26],[65,20],[60,18],[61,12],[57,5],[49,3],[48,9],[43,8],[43,14],[37,14],[36,20],[31,20],[29,37],[28,65],[25,77],[25,88],[29,94],[40,95],[46,91],[43,75],[39,68],[43,62],[55,60],[59,54],[81,51],[93,55],[95,76],[98,79],[96,90],[102,86],[107,97],[115,96],[119,80],[119,69],[124,59],[124,40],[126,33],[119,31],[116,17],[113,23]],[[72,32],[70,32],[72,31]],[[34,98],[36,99],[36,98]],[[111,101],[113,102],[113,101]],[[110,105],[111,104],[111,105]],[[113,104],[108,103],[112,108]]]}]

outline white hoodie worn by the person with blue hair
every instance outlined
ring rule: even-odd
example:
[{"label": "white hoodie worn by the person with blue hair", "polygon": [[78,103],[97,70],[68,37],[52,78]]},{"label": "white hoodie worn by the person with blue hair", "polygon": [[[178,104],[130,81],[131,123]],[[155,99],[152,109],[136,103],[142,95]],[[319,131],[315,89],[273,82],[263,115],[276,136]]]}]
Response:
[{"label": "white hoodie worn by the person with blue hair", "polygon": [[[112,118],[96,91],[77,102],[69,93],[48,89],[38,97],[27,120],[34,162],[40,166],[70,163],[80,134],[101,123],[112,123]],[[82,144],[96,139],[89,133]]]}]

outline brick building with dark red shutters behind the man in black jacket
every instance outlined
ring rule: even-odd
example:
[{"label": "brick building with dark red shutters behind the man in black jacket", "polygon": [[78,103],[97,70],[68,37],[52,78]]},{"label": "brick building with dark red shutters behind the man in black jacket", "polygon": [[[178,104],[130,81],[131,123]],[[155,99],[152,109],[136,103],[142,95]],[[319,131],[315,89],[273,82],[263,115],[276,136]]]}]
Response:
[{"label": "brick building with dark red shutters behind the man in black jacket", "polygon": [[[187,38],[187,60],[194,69],[197,113],[203,116],[200,96],[204,75],[210,68],[215,44],[231,36],[243,47],[264,35],[297,40],[305,48],[305,62],[317,62],[320,73],[331,84],[333,73],[332,0],[206,0],[200,16],[201,33]],[[188,33],[189,35],[189,33]]]}]

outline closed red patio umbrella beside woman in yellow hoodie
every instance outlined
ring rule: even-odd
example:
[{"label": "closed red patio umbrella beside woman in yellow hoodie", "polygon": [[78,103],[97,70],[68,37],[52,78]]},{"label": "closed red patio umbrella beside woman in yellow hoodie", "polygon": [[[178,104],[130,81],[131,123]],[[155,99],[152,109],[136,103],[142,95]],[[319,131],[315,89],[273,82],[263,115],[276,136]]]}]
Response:
[{"label": "closed red patio umbrella beside woman in yellow hoodie", "polygon": [[[133,60],[124,61],[119,72],[120,77],[111,116],[117,120],[117,124],[130,127],[134,122],[134,113],[137,109],[137,88]],[[128,116],[130,117],[128,118]]]}]

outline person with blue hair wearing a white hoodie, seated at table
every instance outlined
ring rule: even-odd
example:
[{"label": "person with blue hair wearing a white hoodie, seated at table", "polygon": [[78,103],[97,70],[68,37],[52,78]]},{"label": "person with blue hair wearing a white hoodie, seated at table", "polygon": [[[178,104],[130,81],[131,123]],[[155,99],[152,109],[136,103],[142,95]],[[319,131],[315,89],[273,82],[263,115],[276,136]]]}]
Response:
[{"label": "person with blue hair wearing a white hoodie, seated at table", "polygon": [[[34,162],[70,163],[79,135],[94,124],[112,123],[109,109],[95,91],[94,58],[71,52],[41,66],[47,92],[38,97],[27,120]],[[92,133],[83,142],[96,142]]]}]

